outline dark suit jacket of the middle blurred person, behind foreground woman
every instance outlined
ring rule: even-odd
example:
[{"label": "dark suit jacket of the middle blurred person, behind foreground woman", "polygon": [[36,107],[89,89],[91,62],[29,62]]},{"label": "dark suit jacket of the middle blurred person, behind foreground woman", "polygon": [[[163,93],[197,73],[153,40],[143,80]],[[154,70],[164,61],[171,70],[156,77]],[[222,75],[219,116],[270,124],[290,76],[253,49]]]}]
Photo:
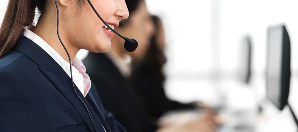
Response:
[{"label": "dark suit jacket of the middle blurred person, behind foreground woman", "polygon": [[128,132],[154,132],[157,129],[156,119],[148,115],[147,108],[133,91],[129,80],[122,76],[107,55],[89,52],[83,63],[97,86],[103,106]]}]

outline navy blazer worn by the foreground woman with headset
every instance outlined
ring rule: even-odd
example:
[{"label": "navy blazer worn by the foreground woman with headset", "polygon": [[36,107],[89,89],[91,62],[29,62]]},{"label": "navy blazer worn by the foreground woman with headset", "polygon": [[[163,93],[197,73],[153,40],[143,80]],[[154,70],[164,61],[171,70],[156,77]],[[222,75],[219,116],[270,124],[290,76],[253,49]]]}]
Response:
[{"label": "navy blazer worn by the foreground woman with headset", "polygon": [[94,85],[86,98],[79,96],[94,126],[70,77],[33,41],[21,36],[0,58],[0,132],[125,132]]}]

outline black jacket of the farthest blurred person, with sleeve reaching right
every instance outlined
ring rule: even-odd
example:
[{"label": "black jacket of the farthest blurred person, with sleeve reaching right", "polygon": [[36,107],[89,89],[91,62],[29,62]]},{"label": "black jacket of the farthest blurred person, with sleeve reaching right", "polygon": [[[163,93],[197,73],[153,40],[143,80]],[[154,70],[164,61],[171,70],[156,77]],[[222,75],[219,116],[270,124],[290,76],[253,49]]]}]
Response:
[{"label": "black jacket of the farthest blurred person, with sleeve reaching right", "polygon": [[142,97],[150,114],[159,118],[172,110],[194,109],[192,104],[182,104],[166,97],[163,79],[158,78],[160,77],[158,73],[161,71],[158,70],[157,66],[143,60],[134,66],[131,75],[134,90]]}]

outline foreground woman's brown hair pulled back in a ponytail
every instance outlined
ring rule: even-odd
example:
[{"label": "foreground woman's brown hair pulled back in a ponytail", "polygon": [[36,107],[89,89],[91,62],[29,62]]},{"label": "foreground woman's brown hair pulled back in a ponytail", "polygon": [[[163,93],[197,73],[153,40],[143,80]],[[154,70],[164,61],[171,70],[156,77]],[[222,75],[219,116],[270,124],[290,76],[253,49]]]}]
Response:
[{"label": "foreground woman's brown hair pulled back in a ponytail", "polygon": [[[78,0],[82,5],[84,0]],[[24,26],[33,27],[35,9],[41,15],[47,0],[9,0],[0,28],[0,58],[10,52],[23,33]]]}]

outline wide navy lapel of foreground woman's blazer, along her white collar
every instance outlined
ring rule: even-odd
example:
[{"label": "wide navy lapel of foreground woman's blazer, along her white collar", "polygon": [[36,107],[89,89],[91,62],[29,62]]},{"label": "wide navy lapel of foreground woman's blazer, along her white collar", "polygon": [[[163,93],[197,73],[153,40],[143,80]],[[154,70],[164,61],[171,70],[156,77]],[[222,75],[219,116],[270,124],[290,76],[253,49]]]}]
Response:
[{"label": "wide navy lapel of foreground woman's blazer, along her white collar", "polygon": [[[25,36],[20,37],[15,50],[18,52],[22,52],[32,61],[34,61],[38,66],[40,66],[40,71],[74,107],[77,113],[88,125],[91,132],[95,132],[94,127],[96,127],[97,130],[103,129],[103,126],[101,125],[99,119],[94,118],[97,116],[93,109],[90,107],[88,101],[80,93],[75,84],[73,88],[71,78],[63,71],[63,69],[48,53],[46,53],[41,47],[39,47],[37,44],[35,44]],[[77,97],[74,89],[77,91],[77,94],[81,99]],[[84,102],[84,104],[82,102]],[[95,124],[94,127],[85,108],[85,105],[88,108],[91,117],[93,117],[92,120]]]}]

